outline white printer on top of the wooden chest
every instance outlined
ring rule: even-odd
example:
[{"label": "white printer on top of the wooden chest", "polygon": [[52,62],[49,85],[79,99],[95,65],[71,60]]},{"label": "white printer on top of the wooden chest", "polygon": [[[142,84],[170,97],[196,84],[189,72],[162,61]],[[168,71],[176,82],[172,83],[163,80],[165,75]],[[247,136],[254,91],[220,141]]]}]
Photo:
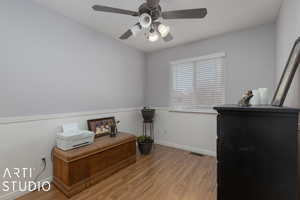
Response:
[{"label": "white printer on top of the wooden chest", "polygon": [[63,132],[56,135],[56,145],[64,151],[86,146],[94,142],[95,133],[79,130],[76,123],[64,124],[62,129]]}]

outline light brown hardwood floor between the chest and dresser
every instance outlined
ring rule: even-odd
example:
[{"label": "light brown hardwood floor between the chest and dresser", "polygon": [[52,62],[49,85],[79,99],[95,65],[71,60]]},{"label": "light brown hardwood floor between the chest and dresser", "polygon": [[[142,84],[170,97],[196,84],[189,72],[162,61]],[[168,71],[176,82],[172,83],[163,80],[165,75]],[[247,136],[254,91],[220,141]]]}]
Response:
[{"label": "light brown hardwood floor between the chest and dresser", "polygon": [[[67,200],[57,188],[18,200]],[[127,167],[70,200],[215,200],[216,160],[156,146]]]}]

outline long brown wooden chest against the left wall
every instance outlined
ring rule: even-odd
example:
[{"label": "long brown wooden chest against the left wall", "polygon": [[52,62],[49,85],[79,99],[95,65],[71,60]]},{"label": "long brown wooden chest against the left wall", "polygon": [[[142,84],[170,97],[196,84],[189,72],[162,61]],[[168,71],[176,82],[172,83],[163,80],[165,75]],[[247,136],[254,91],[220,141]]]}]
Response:
[{"label": "long brown wooden chest against the left wall", "polygon": [[135,163],[136,137],[120,133],[95,139],[89,146],[70,151],[53,151],[53,183],[71,197]]}]

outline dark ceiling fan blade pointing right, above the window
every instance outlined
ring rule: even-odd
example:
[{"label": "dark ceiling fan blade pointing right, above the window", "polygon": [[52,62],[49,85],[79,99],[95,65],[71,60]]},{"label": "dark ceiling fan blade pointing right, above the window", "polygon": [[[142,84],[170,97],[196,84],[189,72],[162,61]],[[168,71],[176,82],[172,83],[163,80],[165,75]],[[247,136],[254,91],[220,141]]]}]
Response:
[{"label": "dark ceiling fan blade pointing right, above the window", "polygon": [[164,19],[197,19],[204,18],[206,15],[206,8],[162,12],[162,18]]}]

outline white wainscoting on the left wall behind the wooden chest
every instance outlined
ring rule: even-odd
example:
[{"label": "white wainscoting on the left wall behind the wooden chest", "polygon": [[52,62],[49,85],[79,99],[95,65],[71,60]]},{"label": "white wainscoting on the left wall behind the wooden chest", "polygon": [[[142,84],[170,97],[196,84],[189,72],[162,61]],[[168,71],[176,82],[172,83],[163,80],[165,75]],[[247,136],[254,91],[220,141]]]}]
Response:
[{"label": "white wainscoting on the left wall behind the wooden chest", "polygon": [[[3,192],[3,174],[6,168],[34,168],[33,177],[41,167],[41,158],[46,157],[47,168],[41,180],[51,180],[51,150],[55,146],[55,135],[64,123],[79,123],[87,129],[88,119],[115,116],[120,120],[121,131],[139,135],[142,130],[140,108],[100,110],[93,112],[0,118],[0,199],[10,200],[26,192]],[[6,179],[7,180],[7,179]],[[28,179],[23,179],[27,180]],[[13,180],[9,180],[13,181]]]}]

